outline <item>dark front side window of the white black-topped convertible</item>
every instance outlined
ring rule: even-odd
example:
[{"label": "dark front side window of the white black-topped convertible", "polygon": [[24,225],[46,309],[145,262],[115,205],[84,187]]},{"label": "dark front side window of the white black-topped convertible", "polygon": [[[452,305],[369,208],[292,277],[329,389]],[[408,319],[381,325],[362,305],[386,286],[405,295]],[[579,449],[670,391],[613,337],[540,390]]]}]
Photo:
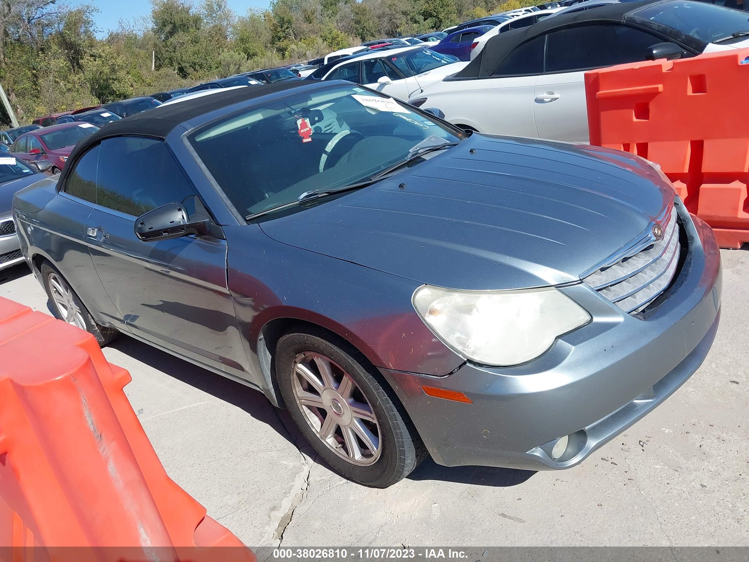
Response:
[{"label": "dark front side window of the white black-topped convertible", "polygon": [[[560,29],[548,35],[546,72],[583,70],[644,61],[655,37],[625,25],[595,24]],[[595,45],[595,49],[590,46]]]}]

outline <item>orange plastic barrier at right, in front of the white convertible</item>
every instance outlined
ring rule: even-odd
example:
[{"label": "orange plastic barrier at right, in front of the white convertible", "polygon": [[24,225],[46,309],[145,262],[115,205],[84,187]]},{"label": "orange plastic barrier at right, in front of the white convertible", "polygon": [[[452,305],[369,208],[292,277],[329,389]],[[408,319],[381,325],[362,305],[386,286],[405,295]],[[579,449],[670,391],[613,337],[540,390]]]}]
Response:
[{"label": "orange plastic barrier at right, in front of the white convertible", "polygon": [[749,49],[585,73],[590,144],[661,165],[724,248],[749,242]]}]

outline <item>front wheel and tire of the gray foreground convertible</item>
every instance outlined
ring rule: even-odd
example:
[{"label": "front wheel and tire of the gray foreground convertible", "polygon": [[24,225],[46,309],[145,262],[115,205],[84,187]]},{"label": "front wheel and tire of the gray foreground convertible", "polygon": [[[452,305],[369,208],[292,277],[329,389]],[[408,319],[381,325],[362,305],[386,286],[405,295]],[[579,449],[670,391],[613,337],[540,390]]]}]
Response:
[{"label": "front wheel and tire of the gray foreground convertible", "polygon": [[288,333],[276,346],[279,389],[307,441],[349,480],[386,488],[428,453],[392,389],[366,365],[322,331]]}]

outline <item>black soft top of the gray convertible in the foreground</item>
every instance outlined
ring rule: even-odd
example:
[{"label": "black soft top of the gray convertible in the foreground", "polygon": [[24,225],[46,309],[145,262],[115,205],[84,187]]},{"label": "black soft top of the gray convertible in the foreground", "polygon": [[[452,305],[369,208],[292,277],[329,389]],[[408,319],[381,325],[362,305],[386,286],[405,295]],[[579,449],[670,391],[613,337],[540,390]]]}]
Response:
[{"label": "black soft top of the gray convertible in the foreground", "polygon": [[310,86],[309,82],[289,80],[286,82],[276,82],[275,84],[247,86],[246,88],[237,88],[235,90],[216,90],[215,94],[169,103],[166,106],[157,106],[153,109],[130,115],[130,117],[112,121],[112,123],[103,125],[96,133],[78,142],[76,148],[73,148],[73,151],[70,153],[68,165],[65,166],[58,184],[62,185],[68,170],[73,168],[70,164],[75,162],[78,154],[81,154],[88,147],[95,145],[100,140],[122,135],[151,136],[157,139],[166,139],[175,127],[199,115],[234,105],[234,103],[252,100],[256,97],[267,96],[269,94],[276,94],[281,91],[291,90],[292,88],[299,88],[303,85]]}]

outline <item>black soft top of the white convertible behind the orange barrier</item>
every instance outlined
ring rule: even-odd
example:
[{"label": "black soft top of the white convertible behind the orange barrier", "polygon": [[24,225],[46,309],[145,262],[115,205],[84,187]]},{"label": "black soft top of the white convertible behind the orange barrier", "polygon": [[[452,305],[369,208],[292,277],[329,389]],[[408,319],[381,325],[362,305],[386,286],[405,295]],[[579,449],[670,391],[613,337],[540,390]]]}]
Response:
[{"label": "black soft top of the white convertible behind the orange barrier", "polygon": [[[670,0],[665,0],[670,1]],[[542,19],[540,22],[528,27],[511,29],[509,31],[503,31],[490,40],[484,46],[479,55],[470,61],[463,70],[453,76],[453,78],[479,78],[482,76],[492,76],[500,64],[510,55],[515,47],[521,43],[525,43],[527,40],[539,37],[539,35],[547,34],[549,31],[553,31],[556,28],[566,27],[571,24],[586,23],[586,22],[611,22],[611,23],[623,23],[625,21],[637,22],[638,25],[643,27],[652,28],[658,31],[658,24],[651,22],[649,19],[638,18],[637,16],[632,17],[632,12],[640,10],[644,6],[650,4],[658,4],[660,2],[653,1],[638,1],[638,2],[617,2],[616,4],[604,4],[602,6],[592,7],[589,10],[581,10],[573,13],[562,13],[559,16],[548,17]],[[662,30],[661,30],[662,31]],[[676,30],[671,30],[671,33]],[[676,32],[675,35],[681,37],[682,34]],[[695,49],[700,49],[700,46],[695,45],[697,41],[694,37],[684,36],[681,37],[682,41],[692,46]],[[704,47],[704,45],[702,46]]]}]

